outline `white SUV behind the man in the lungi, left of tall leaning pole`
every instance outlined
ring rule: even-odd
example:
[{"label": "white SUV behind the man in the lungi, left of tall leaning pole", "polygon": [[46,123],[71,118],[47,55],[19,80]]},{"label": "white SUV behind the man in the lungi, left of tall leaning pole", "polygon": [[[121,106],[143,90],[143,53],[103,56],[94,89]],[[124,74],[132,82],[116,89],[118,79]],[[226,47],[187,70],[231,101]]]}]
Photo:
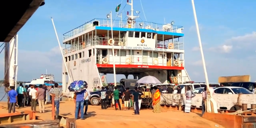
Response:
[{"label": "white SUV behind the man in the lungi, left of tall leaning pole", "polygon": [[179,84],[177,86],[174,87],[174,94],[177,94],[177,88],[180,87],[181,88],[181,94],[185,94],[185,86],[188,86],[191,88],[191,90],[196,89],[196,88],[204,88],[206,87],[205,83],[185,83],[185,84]]}]

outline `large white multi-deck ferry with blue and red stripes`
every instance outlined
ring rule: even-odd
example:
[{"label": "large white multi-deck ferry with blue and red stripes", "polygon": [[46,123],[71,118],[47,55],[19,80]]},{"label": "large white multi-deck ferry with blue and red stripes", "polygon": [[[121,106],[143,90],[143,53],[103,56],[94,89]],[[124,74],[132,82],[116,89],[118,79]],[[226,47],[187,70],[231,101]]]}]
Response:
[{"label": "large white multi-deck ferry with blue and red stripes", "polygon": [[[116,74],[126,79],[132,74],[134,79],[153,75],[162,83],[190,81],[184,63],[183,27],[174,21],[139,21],[133,0],[126,4],[131,7],[126,19],[120,13],[120,19],[111,21],[107,14],[105,19],[95,18],[63,34],[62,83],[83,80],[93,90],[102,86],[101,74],[114,73],[114,66]],[[62,90],[69,84],[63,84]]]}]

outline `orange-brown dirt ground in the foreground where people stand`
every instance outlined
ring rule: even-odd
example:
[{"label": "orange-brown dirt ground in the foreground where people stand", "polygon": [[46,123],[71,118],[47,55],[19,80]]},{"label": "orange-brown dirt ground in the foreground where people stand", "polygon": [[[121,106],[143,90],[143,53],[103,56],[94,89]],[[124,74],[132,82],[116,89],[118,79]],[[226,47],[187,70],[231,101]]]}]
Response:
[{"label": "orange-brown dirt ground in the foreground where people stand", "polygon": [[[0,103],[1,106],[1,103]],[[7,106],[2,103],[2,106]],[[51,105],[46,105],[46,113],[36,113],[43,120],[51,120]],[[37,106],[37,111],[39,107]],[[31,110],[30,107],[16,109],[16,111]],[[60,114],[74,118],[75,104],[73,101],[60,103]],[[7,113],[6,109],[0,112]],[[89,115],[84,116],[85,120],[78,119],[77,127],[140,127],[140,128],[199,128],[216,127],[216,123],[208,121],[197,113],[183,113],[180,111],[162,110],[162,113],[153,113],[152,110],[141,110],[140,115],[133,115],[133,110],[115,111],[113,108],[101,110],[100,106],[89,106]],[[217,124],[219,125],[219,124]],[[222,127],[219,125],[219,127]]]}]

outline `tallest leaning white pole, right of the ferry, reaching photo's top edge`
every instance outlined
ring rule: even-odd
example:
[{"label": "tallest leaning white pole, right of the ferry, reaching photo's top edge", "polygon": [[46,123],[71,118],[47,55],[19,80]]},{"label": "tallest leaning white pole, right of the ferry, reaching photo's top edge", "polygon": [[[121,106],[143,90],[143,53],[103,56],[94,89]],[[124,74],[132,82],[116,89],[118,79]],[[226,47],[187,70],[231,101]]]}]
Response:
[{"label": "tallest leaning white pole, right of the ferry, reaching photo's top edge", "polygon": [[195,8],[195,3],[194,3],[194,0],[191,0],[191,2],[192,2],[194,18],[195,18],[196,27],[197,27],[197,36],[198,36],[200,51],[201,51],[201,55],[202,55],[202,62],[203,62],[204,75],[205,75],[205,82],[206,82],[207,88],[209,88],[209,81],[208,81],[208,75],[207,75],[206,66],[205,66],[204,53],[203,53],[203,47],[202,47],[202,42],[201,42],[201,36],[200,36],[200,32],[199,32],[198,21],[197,21],[197,13],[196,13],[196,8]]}]

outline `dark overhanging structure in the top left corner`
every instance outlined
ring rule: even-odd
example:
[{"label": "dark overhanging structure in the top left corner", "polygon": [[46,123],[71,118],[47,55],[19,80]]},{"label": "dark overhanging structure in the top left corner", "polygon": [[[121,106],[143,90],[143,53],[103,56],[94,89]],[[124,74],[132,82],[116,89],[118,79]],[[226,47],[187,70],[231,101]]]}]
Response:
[{"label": "dark overhanging structure in the top left corner", "polygon": [[9,42],[45,0],[0,1],[0,42]]}]

